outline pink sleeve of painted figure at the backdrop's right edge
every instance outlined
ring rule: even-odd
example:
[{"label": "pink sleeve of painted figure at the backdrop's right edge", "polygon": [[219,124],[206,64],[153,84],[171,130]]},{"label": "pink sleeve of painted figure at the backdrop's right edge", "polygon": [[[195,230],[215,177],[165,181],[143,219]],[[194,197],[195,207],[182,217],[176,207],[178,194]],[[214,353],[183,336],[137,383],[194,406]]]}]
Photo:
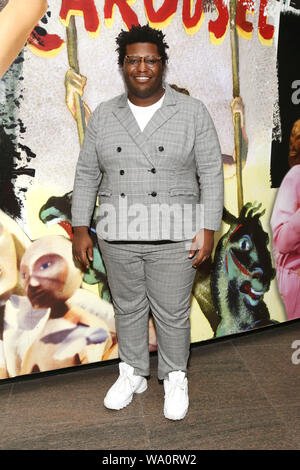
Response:
[{"label": "pink sleeve of painted figure at the backdrop's right edge", "polygon": [[300,165],[297,166],[284,177],[271,217],[273,247],[282,254],[297,250],[300,245]]}]

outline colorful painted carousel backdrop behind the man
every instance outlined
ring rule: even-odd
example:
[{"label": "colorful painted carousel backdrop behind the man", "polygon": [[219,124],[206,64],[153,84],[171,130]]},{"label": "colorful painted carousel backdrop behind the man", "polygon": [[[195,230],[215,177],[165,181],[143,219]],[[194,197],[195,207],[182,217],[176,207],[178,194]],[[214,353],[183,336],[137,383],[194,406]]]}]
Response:
[{"label": "colorful painted carousel backdrop behind the man", "polygon": [[[96,237],[93,265],[82,272],[71,255],[70,207],[90,113],[124,89],[115,38],[131,24],[163,30],[170,46],[166,81],[205,103],[221,143],[223,224],[212,259],[196,273],[191,341],[289,319],[270,224],[289,169],[288,146],[275,146],[289,140],[299,116],[300,77],[280,49],[300,24],[297,2],[287,3],[49,1],[0,81],[1,378],[118,357]],[[296,35],[289,41],[295,51],[296,41]],[[292,84],[278,73],[277,55],[281,66],[287,61]],[[282,90],[294,93],[295,104],[291,98],[284,108]],[[156,349],[151,317],[149,349]]]}]

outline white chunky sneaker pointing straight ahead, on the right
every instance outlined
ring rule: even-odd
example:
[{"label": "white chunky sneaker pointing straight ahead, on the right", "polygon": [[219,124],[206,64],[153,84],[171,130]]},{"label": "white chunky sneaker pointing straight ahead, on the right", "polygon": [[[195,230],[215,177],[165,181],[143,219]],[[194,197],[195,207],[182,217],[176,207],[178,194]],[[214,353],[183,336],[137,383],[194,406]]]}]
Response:
[{"label": "white chunky sneaker pointing straight ahead, on the right", "polygon": [[164,380],[164,415],[168,419],[183,419],[189,407],[188,383],[181,370],[169,372],[169,380]]}]

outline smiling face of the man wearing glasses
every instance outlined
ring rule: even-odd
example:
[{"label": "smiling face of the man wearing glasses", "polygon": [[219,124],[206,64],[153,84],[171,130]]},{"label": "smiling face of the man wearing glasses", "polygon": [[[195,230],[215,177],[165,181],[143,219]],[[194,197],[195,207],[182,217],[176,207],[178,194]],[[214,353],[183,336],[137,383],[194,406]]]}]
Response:
[{"label": "smiling face of the man wearing glasses", "polygon": [[[137,42],[126,46],[126,55],[137,57],[159,57],[157,45],[148,42]],[[164,66],[159,60],[154,66],[144,60],[138,65],[130,65],[126,59],[122,66],[128,97],[138,106],[150,106],[163,94],[162,78]]]}]

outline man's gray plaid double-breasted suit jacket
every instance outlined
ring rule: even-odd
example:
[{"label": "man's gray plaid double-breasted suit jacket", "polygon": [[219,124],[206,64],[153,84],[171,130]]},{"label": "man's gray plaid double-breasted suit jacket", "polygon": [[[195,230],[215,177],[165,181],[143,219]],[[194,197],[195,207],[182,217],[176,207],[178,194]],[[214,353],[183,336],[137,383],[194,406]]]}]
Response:
[{"label": "man's gray plaid double-breasted suit jacket", "polygon": [[[165,84],[165,97],[141,132],[122,94],[90,117],[72,197],[73,226],[106,240],[184,240],[219,230],[223,165],[204,104]],[[191,232],[192,230],[192,232]]]}]

